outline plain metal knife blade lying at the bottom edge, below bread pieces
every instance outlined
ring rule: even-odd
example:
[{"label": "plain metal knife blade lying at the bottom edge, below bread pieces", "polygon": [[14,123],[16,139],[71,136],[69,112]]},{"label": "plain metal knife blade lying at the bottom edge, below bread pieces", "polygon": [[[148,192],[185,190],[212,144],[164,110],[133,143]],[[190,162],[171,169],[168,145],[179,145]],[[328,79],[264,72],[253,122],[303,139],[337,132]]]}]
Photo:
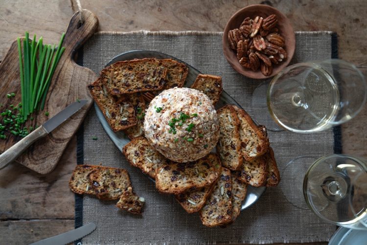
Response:
[{"label": "plain metal knife blade lying at the bottom edge, below bread pieces", "polygon": [[49,244],[66,245],[66,244],[72,243],[80,238],[87,236],[88,234],[92,233],[92,231],[94,230],[95,230],[95,224],[88,223],[74,230],[67,231],[65,233],[62,233],[54,237],[46,238],[44,240],[35,242],[30,245],[49,245]]}]

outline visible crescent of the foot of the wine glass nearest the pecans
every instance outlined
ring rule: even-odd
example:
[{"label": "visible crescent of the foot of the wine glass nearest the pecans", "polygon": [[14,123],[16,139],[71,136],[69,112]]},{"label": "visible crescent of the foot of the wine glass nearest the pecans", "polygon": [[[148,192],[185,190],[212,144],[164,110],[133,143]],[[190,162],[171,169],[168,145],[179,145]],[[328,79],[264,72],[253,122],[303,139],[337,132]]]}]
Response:
[{"label": "visible crescent of the foot of the wine glass nearest the pecans", "polygon": [[262,82],[252,93],[252,116],[257,124],[265,125],[269,131],[284,131],[271,117],[266,101],[269,82]]}]

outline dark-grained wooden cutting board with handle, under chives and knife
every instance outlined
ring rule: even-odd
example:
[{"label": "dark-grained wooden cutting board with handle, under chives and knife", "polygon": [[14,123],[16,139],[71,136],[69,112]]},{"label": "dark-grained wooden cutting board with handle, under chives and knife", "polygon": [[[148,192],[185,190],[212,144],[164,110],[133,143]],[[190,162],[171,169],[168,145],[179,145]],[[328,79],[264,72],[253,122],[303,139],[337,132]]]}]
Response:
[{"label": "dark-grained wooden cutting board with handle, under chives and knife", "polygon": [[[89,102],[48,136],[29,147],[16,160],[16,162],[41,174],[51,172],[55,168],[69,140],[83,122],[88,109],[92,105],[92,98],[87,90],[87,84],[93,82],[97,78],[97,75],[87,68],[78,66],[74,62],[73,57],[75,51],[97,29],[98,19],[92,12],[86,9],[83,10],[82,14],[84,23],[81,24],[80,22],[79,12],[75,13],[70,20],[63,43],[63,47],[66,49],[53,74],[46,98],[45,109],[39,111],[38,114],[34,114],[34,120],[28,120],[25,125],[27,127],[42,125],[49,118],[56,115],[77,99],[87,99]],[[30,35],[32,34],[30,32]],[[2,111],[8,108],[10,104],[17,105],[21,102],[17,41],[13,42],[0,64],[0,81],[0,93],[2,95],[0,97],[0,103],[3,105],[1,107]],[[16,93],[16,96],[14,98],[7,98],[6,95],[10,93]],[[49,112],[47,117],[45,116],[46,111]],[[4,152],[19,140],[20,137],[14,135],[8,137],[6,140],[0,140],[0,151]]]}]

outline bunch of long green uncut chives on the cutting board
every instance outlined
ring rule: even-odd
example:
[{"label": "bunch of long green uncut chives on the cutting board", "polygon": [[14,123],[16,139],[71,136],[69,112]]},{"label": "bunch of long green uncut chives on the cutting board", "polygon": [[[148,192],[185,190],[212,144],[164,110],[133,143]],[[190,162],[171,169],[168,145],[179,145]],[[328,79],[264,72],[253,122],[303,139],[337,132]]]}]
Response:
[{"label": "bunch of long green uncut chives on the cutting board", "polygon": [[21,73],[22,109],[21,115],[24,120],[39,109],[45,108],[45,101],[50,87],[52,75],[63,54],[65,48],[61,47],[65,33],[61,35],[59,45],[44,45],[41,37],[38,42],[36,35],[32,41],[29,40],[28,32],[25,32],[22,45],[20,38],[18,42],[19,68]]}]

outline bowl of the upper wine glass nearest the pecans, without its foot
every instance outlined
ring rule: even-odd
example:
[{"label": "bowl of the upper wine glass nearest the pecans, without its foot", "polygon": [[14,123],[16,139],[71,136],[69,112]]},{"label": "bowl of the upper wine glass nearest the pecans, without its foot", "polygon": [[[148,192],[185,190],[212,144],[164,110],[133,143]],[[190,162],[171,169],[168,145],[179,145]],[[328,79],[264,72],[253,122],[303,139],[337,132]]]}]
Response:
[{"label": "bowl of the upper wine glass nearest the pecans, without its foot", "polygon": [[275,75],[267,92],[272,118],[297,133],[318,132],[345,123],[361,111],[366,99],[364,75],[340,59],[289,66]]}]

